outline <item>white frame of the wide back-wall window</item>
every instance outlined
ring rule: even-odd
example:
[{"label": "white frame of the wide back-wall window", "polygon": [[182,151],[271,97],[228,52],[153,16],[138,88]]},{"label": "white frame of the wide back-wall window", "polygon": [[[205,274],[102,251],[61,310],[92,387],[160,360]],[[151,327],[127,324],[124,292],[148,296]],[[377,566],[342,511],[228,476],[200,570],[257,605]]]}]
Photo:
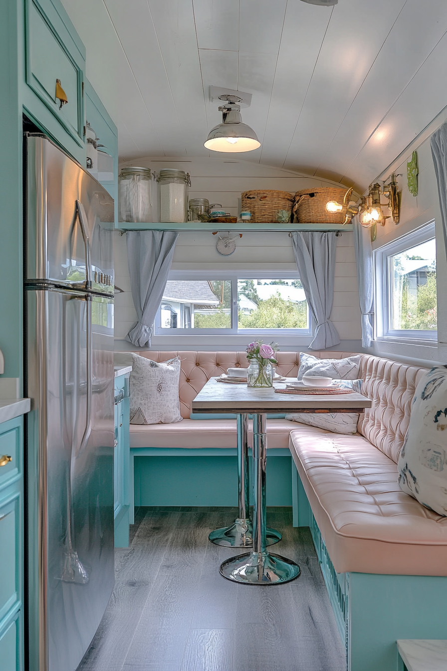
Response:
[{"label": "white frame of the wide back-wall window", "polygon": [[238,329],[238,305],[237,305],[237,280],[254,280],[269,278],[272,280],[299,280],[298,270],[171,270],[168,280],[233,280],[231,284],[231,323],[229,329],[162,329],[161,305],[157,310],[154,322],[155,337],[164,338],[186,338],[190,335],[214,336],[234,338],[235,336],[253,336],[259,338],[273,338],[277,340],[280,336],[294,335],[305,336],[307,339],[312,336],[312,317],[308,305],[308,328],[306,329]]}]

